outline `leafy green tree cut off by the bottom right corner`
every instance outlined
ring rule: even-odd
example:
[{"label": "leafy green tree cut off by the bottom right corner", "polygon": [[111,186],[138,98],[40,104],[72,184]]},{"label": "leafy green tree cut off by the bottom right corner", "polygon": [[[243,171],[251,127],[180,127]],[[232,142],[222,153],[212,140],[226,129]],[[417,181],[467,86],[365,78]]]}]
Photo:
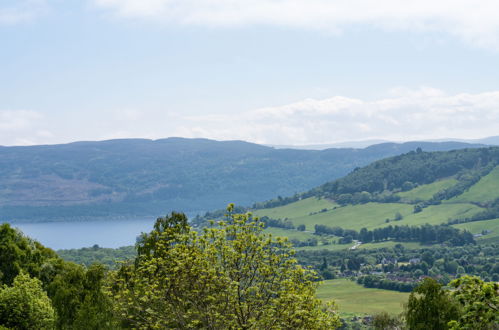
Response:
[{"label": "leafy green tree cut off by the bottom right corner", "polygon": [[450,322],[451,329],[499,328],[499,284],[478,277],[463,276],[450,283],[452,296],[462,306],[461,317]]}]

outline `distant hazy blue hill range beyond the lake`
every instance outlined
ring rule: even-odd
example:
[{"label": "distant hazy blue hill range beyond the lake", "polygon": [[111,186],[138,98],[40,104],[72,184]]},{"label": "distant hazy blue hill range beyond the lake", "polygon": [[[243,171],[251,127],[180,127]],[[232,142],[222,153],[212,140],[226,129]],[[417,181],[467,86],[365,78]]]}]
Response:
[{"label": "distant hazy blue hill range beyond the lake", "polygon": [[461,142],[364,149],[276,149],[243,141],[168,138],[0,147],[0,220],[158,216],[289,196],[374,160]]}]

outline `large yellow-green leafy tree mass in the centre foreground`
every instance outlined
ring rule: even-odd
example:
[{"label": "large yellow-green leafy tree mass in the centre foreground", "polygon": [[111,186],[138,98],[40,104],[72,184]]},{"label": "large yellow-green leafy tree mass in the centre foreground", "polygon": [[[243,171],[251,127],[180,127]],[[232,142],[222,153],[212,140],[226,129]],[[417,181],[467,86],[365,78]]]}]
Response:
[{"label": "large yellow-green leafy tree mass in the centre foreground", "polygon": [[331,306],[315,298],[315,274],[297,264],[287,240],[264,234],[258,219],[233,209],[201,234],[183,214],[158,219],[135,262],[111,275],[118,315],[139,328],[338,326]]}]

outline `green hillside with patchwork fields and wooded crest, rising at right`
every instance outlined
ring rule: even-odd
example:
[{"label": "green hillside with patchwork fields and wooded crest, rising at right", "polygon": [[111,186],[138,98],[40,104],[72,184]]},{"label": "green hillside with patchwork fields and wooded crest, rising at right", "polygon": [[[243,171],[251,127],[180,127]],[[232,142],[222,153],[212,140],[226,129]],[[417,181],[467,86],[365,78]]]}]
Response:
[{"label": "green hillside with patchwork fields and wooded crest, rising at right", "polygon": [[[295,227],[304,225],[309,233],[316,225],[360,231],[450,224],[470,231],[478,242],[497,242],[498,164],[497,147],[409,152],[358,168],[292,198],[259,203],[253,213]],[[280,234],[286,236],[286,231],[293,232],[283,228]],[[314,248],[321,248],[321,242]]]}]

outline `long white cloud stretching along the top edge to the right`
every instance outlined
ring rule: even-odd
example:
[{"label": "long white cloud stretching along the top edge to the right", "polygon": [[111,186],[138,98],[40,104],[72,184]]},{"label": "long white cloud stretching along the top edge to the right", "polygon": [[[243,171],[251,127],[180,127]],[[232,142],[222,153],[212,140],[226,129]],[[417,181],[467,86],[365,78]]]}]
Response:
[{"label": "long white cloud stretching along the top edge to the right", "polygon": [[437,31],[499,49],[497,0],[91,0],[118,16],[199,26],[275,25],[338,32],[356,24]]}]

